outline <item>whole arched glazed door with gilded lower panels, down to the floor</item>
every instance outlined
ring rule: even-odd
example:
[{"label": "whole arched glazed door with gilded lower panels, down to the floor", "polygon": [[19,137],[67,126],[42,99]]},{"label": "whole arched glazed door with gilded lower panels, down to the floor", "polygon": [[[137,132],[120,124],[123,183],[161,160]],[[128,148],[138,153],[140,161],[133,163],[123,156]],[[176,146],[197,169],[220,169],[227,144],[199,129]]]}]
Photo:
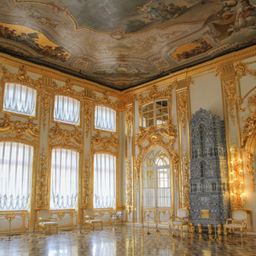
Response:
[{"label": "whole arched glazed door with gilded lower panels, down to the floor", "polygon": [[164,149],[148,151],[143,159],[142,174],[143,221],[162,222],[172,216],[173,206],[173,177],[170,158]]}]

